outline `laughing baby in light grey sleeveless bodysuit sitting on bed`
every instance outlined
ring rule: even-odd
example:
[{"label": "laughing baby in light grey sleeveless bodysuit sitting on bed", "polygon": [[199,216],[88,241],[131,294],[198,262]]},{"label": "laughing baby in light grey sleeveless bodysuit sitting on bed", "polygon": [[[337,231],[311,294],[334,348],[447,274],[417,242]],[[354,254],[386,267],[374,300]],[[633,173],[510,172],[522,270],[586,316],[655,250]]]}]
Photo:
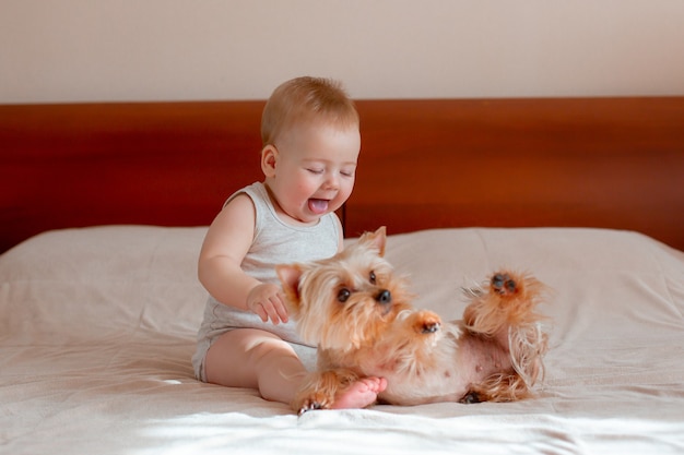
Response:
[{"label": "laughing baby in light grey sleeveless bodysuit sitting on bed", "polygon": [[[354,187],[358,113],[334,81],[297,77],[280,85],[261,118],[261,170],[211,224],[199,258],[210,294],[192,358],[199,380],[257,388],[291,404],[306,368],[275,265],[330,258],[342,250],[334,214]],[[367,378],[335,398],[337,408],[374,403],[387,382]]]}]

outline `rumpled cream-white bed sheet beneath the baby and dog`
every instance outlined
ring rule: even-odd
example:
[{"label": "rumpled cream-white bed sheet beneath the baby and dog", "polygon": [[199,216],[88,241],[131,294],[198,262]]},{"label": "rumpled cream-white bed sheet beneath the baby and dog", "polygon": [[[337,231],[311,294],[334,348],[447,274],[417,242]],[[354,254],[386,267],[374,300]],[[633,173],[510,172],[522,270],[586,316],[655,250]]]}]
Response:
[{"label": "rumpled cream-white bed sheet beneath the baby and dog", "polygon": [[[511,404],[315,411],[202,384],[190,357],[205,228],[107,226],[0,256],[0,453],[684,453],[684,253],[599,229],[390,236],[416,303],[448,319],[499,267],[554,289],[543,387]],[[310,360],[310,359],[309,359]]]}]

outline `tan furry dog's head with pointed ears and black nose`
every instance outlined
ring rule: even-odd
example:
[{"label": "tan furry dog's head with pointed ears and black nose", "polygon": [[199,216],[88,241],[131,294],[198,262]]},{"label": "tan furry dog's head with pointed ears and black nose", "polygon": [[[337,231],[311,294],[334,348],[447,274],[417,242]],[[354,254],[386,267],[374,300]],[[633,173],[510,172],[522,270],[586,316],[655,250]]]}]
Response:
[{"label": "tan furry dog's head with pointed ears and black nose", "polygon": [[394,277],[384,258],[385,240],[381,227],[330,259],[276,267],[306,343],[342,350],[370,346],[410,308],[405,280]]}]

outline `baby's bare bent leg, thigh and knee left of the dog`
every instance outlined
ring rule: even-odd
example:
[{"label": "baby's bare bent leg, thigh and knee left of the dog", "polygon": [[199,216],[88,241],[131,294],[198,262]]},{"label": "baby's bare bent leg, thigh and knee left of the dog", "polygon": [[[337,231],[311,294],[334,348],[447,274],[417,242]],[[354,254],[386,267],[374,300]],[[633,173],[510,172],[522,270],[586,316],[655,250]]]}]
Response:
[{"label": "baby's bare bent leg, thigh and knee left of the dog", "polygon": [[257,328],[223,334],[207,352],[207,380],[257,388],[264,399],[290,404],[307,371],[290,344]]}]

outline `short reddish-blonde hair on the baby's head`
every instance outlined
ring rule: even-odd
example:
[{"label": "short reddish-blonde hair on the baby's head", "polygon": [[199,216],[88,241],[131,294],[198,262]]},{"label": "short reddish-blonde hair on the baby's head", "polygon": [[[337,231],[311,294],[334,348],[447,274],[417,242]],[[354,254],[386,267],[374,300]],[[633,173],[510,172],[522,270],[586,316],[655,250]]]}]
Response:
[{"label": "short reddish-blonde hair on the baby's head", "polygon": [[299,122],[320,119],[335,127],[358,127],[358,112],[338,81],[303,76],[279,85],[261,115],[261,141],[272,145]]}]

